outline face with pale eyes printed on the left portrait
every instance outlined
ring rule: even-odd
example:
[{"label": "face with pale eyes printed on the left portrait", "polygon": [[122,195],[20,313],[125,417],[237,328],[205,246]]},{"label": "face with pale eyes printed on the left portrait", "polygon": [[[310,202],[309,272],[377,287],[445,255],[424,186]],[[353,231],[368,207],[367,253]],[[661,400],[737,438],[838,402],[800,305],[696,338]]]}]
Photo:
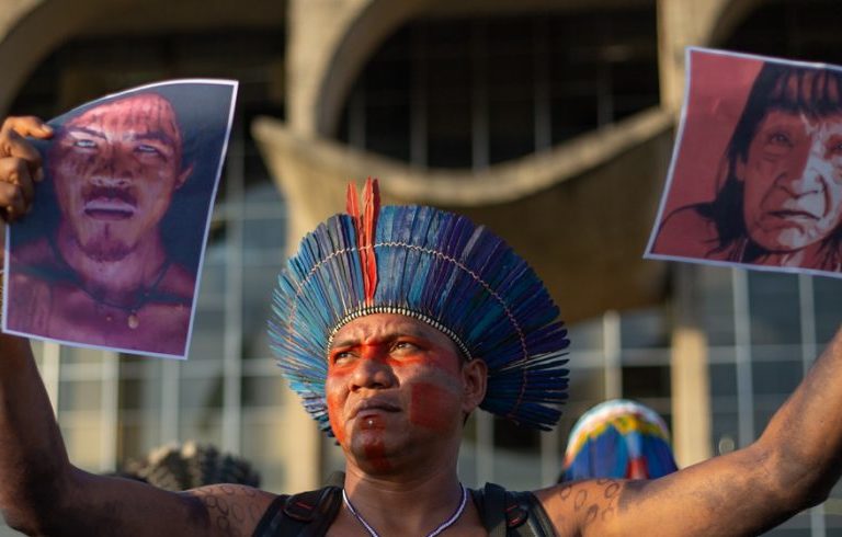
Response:
[{"label": "face with pale eyes printed on the left portrait", "polygon": [[49,167],[62,225],[90,258],[116,261],[155,236],[181,170],[172,106],[147,93],[88,110],[64,126]]}]

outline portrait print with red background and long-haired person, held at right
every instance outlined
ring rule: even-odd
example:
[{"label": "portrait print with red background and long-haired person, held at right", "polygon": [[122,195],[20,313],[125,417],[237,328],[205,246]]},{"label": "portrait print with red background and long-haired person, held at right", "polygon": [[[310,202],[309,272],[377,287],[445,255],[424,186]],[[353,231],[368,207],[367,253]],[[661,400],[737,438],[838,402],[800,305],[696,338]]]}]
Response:
[{"label": "portrait print with red background and long-haired person, held at right", "polygon": [[842,69],[692,48],[646,256],[842,275]]}]

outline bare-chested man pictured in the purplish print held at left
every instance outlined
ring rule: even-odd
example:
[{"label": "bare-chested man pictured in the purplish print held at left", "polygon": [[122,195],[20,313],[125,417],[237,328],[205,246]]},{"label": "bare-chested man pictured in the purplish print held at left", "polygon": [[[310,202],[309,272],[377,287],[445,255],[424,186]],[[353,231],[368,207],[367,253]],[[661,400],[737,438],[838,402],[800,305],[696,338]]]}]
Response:
[{"label": "bare-chested man pictured in the purplish print held at left", "polygon": [[160,231],[192,171],[182,146],[172,105],[155,92],[96,104],[58,129],[47,155],[58,225],[12,250],[11,330],[184,353],[195,277]]}]

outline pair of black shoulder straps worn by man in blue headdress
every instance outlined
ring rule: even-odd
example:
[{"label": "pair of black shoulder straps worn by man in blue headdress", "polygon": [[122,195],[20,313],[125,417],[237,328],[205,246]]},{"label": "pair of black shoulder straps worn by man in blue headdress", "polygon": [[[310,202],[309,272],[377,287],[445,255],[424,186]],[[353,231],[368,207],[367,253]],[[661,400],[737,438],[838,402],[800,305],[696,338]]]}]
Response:
[{"label": "pair of black shoulder straps worn by man in blue headdress", "polygon": [[[342,506],[343,481],[299,494],[277,496],[258,523],[253,537],[322,537]],[[531,492],[510,492],[486,483],[470,491],[490,537],[553,537],[553,525]]]}]

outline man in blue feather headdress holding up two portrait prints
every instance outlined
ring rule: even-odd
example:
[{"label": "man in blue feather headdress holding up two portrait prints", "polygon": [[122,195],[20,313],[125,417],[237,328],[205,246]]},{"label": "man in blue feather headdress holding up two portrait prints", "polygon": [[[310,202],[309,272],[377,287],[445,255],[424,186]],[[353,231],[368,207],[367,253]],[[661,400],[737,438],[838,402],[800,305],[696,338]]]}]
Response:
[{"label": "man in blue feather headdress holding up two portrait prints", "polygon": [[[48,133],[33,118],[2,129],[0,205],[22,214],[38,163],[20,135]],[[292,499],[224,484],[174,493],[87,473],[67,458],[29,343],[0,335],[7,521],[32,535],[314,535],[321,524],[333,536],[722,536],[758,534],[827,498],[842,468],[842,334],[744,449],[653,481],[466,492],[465,418],[481,405],[555,423],[566,334],[500,239],[429,207],[379,212],[375,194],[362,209],[351,196],[350,215],[304,239],[271,324],[292,387],[345,454],[339,487]]]}]

